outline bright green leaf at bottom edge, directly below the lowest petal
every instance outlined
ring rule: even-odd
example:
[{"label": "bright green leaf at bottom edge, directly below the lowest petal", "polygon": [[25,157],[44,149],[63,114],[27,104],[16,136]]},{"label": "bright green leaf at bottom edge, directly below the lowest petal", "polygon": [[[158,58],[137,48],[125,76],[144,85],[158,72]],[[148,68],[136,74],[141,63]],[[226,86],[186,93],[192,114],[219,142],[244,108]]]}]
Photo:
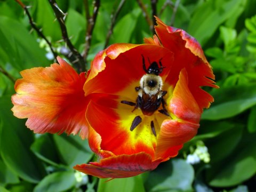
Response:
[{"label": "bright green leaf at bottom edge, directly below the lowest petal", "polygon": [[[97,192],[143,192],[143,182],[141,176],[122,179],[100,179]],[[107,182],[106,182],[107,181]]]}]

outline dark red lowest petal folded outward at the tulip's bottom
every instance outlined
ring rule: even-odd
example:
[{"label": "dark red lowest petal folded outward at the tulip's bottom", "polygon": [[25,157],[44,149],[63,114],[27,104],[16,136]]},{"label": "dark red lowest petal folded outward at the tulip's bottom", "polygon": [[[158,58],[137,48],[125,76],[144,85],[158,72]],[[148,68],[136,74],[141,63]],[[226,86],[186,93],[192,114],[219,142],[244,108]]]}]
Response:
[{"label": "dark red lowest petal folded outward at the tulip's bottom", "polygon": [[74,169],[99,178],[127,178],[154,170],[161,161],[157,159],[152,162],[150,155],[141,152],[103,158],[100,162],[76,165]]}]

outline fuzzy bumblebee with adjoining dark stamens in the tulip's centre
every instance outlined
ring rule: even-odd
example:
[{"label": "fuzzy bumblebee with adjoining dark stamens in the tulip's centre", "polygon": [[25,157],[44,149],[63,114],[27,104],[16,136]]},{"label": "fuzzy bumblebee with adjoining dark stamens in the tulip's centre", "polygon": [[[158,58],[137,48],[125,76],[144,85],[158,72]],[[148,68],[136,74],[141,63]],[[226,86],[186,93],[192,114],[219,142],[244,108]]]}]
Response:
[{"label": "fuzzy bumblebee with adjoining dark stamens in the tulip's centre", "polygon": [[[145,75],[143,75],[140,79],[140,86],[135,87],[135,91],[138,92],[137,102],[131,102],[131,101],[121,101],[121,103],[124,103],[126,105],[134,106],[133,110],[140,109],[142,111],[143,115],[151,116],[154,114],[154,112],[161,106],[161,110],[158,110],[160,113],[170,116],[165,108],[165,101],[163,99],[164,95],[166,95],[167,91],[163,91],[163,81],[161,76],[159,74],[163,71],[163,65],[162,65],[162,59],[159,60],[159,66],[156,61],[149,62],[149,67],[146,68],[145,58],[142,56],[142,67],[143,70],[146,72]],[[132,125],[130,127],[130,130],[133,131],[135,127],[137,127],[141,123],[142,119],[140,116],[136,116],[133,119]],[[155,131],[155,125],[154,122],[150,122],[151,130],[153,134],[156,136]]]}]

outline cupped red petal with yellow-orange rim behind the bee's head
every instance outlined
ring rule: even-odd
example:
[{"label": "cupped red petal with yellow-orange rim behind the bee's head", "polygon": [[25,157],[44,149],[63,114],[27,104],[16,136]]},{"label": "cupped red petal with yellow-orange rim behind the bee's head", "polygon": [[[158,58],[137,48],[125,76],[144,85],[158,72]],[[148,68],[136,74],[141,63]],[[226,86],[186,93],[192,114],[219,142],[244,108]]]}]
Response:
[{"label": "cupped red petal with yellow-orange rim behind the bee's head", "polygon": [[[110,48],[111,50],[109,50]],[[119,55],[114,54],[116,53],[114,49],[117,49],[116,52]],[[122,50],[124,51],[125,49]],[[86,94],[104,93],[126,97],[127,92],[124,93],[122,91],[131,84],[139,86],[140,78],[145,74],[141,55],[145,57],[147,67],[149,66],[148,59],[150,59],[150,62],[158,62],[163,58],[162,62],[166,68],[164,68],[162,76],[166,75],[170,70],[173,54],[162,46],[142,44],[120,53],[119,46],[113,45],[95,57],[92,71],[97,71],[98,75],[97,78],[93,78],[96,72],[93,73],[91,71],[89,74],[88,79],[90,81],[86,81],[84,85]],[[101,71],[99,66],[101,66]],[[107,68],[105,69],[106,66]],[[137,96],[137,93],[134,91],[135,86],[128,92],[128,94],[133,94],[134,99]]]}]

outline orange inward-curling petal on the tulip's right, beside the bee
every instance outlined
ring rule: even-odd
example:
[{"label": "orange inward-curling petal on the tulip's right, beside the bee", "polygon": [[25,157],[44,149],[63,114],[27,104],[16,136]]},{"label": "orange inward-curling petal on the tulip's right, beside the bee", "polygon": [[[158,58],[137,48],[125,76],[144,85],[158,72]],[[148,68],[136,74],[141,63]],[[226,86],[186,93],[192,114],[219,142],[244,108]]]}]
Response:
[{"label": "orange inward-curling petal on the tulip's right, beside the bee", "polygon": [[175,118],[165,120],[159,132],[156,147],[157,157],[172,157],[178,154],[183,143],[193,138],[199,127],[201,110],[189,91],[186,69],[182,69],[168,109]]}]

